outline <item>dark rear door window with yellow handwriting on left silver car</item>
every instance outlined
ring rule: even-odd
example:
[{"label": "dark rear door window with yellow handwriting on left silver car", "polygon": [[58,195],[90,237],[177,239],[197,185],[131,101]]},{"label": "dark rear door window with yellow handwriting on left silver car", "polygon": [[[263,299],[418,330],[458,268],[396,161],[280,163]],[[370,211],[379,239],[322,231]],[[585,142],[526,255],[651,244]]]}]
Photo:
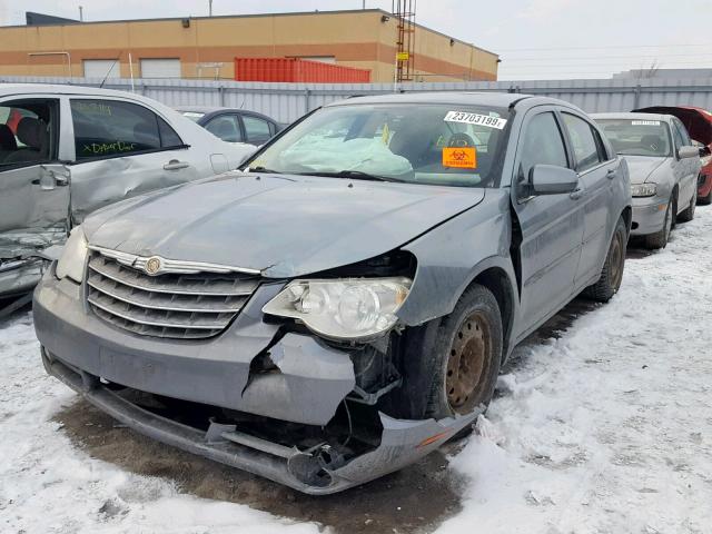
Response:
[{"label": "dark rear door window with yellow handwriting on left silver car", "polygon": [[77,160],[162,148],[158,116],[142,106],[117,100],[71,100],[71,117]]}]

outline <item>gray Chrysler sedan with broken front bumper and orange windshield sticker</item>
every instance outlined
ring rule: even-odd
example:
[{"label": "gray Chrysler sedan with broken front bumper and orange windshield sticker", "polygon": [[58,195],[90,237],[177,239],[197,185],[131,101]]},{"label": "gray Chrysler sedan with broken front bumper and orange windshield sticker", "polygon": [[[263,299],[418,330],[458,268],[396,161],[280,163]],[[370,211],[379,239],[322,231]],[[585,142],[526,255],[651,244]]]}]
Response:
[{"label": "gray Chrysler sedan with broken front bumper and orange windshield sticker", "polygon": [[34,326],[123,424],[334,493],[471,428],[517,343],[616,293],[630,225],[626,164],[573,106],[355,98],[244,172],[88,217]]}]

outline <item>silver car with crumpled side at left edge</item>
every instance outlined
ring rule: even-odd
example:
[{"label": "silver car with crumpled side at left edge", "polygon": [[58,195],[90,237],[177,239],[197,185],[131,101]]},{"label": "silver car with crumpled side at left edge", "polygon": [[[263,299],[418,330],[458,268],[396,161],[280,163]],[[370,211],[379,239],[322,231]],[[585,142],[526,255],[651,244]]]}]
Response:
[{"label": "silver car with crumpled side at left edge", "polygon": [[235,169],[253,151],[138,95],[1,85],[0,296],[31,289],[44,250],[87,214]]}]

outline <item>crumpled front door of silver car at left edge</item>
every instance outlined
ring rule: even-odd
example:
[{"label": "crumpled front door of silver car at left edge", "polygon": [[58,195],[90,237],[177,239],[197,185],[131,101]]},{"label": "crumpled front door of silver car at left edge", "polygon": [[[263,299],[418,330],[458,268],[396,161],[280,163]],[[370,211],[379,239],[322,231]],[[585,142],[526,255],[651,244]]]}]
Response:
[{"label": "crumpled front door of silver car at left edge", "polygon": [[67,237],[69,168],[59,161],[60,126],[57,97],[0,100],[0,271],[9,259],[30,259]]}]

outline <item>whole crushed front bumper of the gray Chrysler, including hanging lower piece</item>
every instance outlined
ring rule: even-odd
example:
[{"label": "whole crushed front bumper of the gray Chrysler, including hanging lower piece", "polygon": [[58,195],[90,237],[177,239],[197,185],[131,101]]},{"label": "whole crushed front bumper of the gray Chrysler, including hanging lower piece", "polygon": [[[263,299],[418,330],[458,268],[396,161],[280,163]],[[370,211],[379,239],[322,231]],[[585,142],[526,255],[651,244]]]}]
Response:
[{"label": "whole crushed front bumper of the gray Chrysler, including hanging lower piece", "polygon": [[[53,267],[34,291],[34,326],[47,372],[130,428],[187,452],[264,476],[304,493],[340,492],[395,472],[437,448],[482,411],[442,421],[378,414],[380,439],[339,457],[328,445],[287,447],[212,423],[202,429],[161,417],[115,393],[105,382],[166,397],[306,425],[326,425],[353,390],[348,353],[310,336],[279,338],[261,307],[281,285],[264,286],[220,336],[200,342],[154,339],[103,323],[85,306],[82,288],[57,280]],[[279,373],[250,376],[269,350]],[[265,424],[269,424],[268,421]]]}]

